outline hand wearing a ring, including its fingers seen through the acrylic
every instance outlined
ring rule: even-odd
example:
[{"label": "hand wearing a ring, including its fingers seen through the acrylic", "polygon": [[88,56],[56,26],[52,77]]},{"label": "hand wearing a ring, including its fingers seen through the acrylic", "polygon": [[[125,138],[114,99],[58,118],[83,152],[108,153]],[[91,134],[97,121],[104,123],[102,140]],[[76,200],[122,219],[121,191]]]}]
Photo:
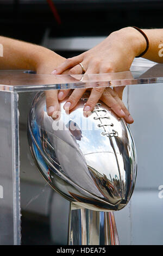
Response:
[{"label": "hand wearing a ring, including its fingers seen through the acrylic", "polygon": [[[71,75],[82,74],[84,70],[85,74],[110,74],[112,72],[127,71],[130,69],[135,56],[141,51],[137,47],[137,42],[140,44],[140,41],[137,39],[138,34],[131,27],[114,32],[91,50],[65,60],[52,74],[59,75],[68,69],[70,69],[68,73]],[[84,70],[79,63],[83,65]],[[93,88],[89,100],[85,104],[84,111],[92,111],[98,100],[101,99],[112,108],[118,117],[123,117],[127,123],[133,123],[133,118],[131,118],[122,102],[123,89],[124,87],[115,87],[114,89],[104,87]],[[85,90],[73,90],[64,107],[71,110]],[[68,93],[68,90],[60,90],[58,99],[65,99]]]}]

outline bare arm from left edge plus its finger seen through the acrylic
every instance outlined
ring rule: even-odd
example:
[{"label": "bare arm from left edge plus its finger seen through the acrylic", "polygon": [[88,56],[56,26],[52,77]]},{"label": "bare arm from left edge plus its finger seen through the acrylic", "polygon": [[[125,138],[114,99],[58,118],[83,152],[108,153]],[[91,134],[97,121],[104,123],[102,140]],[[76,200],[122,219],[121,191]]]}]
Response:
[{"label": "bare arm from left edge plus its finger seen through the acrylic", "polygon": [[[65,58],[57,53],[35,44],[0,36],[3,57],[0,57],[0,69],[34,70],[37,74],[51,74]],[[48,114],[58,110],[58,91],[47,90],[46,103]]]}]

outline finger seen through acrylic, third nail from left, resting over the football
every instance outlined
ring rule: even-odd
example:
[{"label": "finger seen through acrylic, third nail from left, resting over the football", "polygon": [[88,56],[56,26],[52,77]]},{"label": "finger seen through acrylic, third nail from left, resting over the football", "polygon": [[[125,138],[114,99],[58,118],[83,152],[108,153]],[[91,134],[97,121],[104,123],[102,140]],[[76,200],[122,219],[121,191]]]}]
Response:
[{"label": "finger seen through acrylic, third nail from left, resting over the football", "polygon": [[70,111],[74,106],[77,105],[78,101],[81,99],[83,94],[85,93],[86,89],[75,89],[73,90],[70,97],[68,97],[68,100],[66,101],[64,105],[65,111]]}]

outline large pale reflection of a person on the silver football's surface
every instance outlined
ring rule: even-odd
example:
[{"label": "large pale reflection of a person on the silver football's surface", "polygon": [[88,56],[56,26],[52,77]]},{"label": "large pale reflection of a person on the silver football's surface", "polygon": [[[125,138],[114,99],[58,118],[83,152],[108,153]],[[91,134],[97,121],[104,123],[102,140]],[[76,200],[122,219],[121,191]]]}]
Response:
[{"label": "large pale reflection of a person on the silver football's surface", "polygon": [[[47,137],[53,143],[54,152],[62,171],[77,184],[80,180],[80,184],[85,190],[103,197],[90,175],[85,157],[77,143],[82,138],[82,131],[77,123],[70,120],[65,125],[61,119],[53,120],[40,106],[37,107],[37,111],[35,112],[36,120],[39,120],[39,126],[46,131]],[[41,111],[42,114],[40,114]],[[37,116],[42,118],[39,119]],[[62,129],[55,129],[55,127],[61,127]],[[44,147],[46,147],[46,144],[44,144]],[[77,169],[80,169],[80,172],[77,172]]]}]

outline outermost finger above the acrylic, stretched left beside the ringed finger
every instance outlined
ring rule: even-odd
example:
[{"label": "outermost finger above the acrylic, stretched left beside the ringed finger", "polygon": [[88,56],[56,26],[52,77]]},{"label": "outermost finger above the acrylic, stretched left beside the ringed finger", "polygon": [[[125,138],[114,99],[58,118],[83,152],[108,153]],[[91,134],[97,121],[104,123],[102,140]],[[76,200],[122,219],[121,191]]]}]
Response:
[{"label": "outermost finger above the acrylic, stretched left beside the ringed finger", "polygon": [[60,66],[57,67],[57,69],[53,70],[53,75],[59,75],[62,74],[66,69],[70,69],[73,66],[76,66],[79,62],[83,61],[83,56],[80,54],[79,56],[68,58],[65,60],[64,63],[62,63]]}]

